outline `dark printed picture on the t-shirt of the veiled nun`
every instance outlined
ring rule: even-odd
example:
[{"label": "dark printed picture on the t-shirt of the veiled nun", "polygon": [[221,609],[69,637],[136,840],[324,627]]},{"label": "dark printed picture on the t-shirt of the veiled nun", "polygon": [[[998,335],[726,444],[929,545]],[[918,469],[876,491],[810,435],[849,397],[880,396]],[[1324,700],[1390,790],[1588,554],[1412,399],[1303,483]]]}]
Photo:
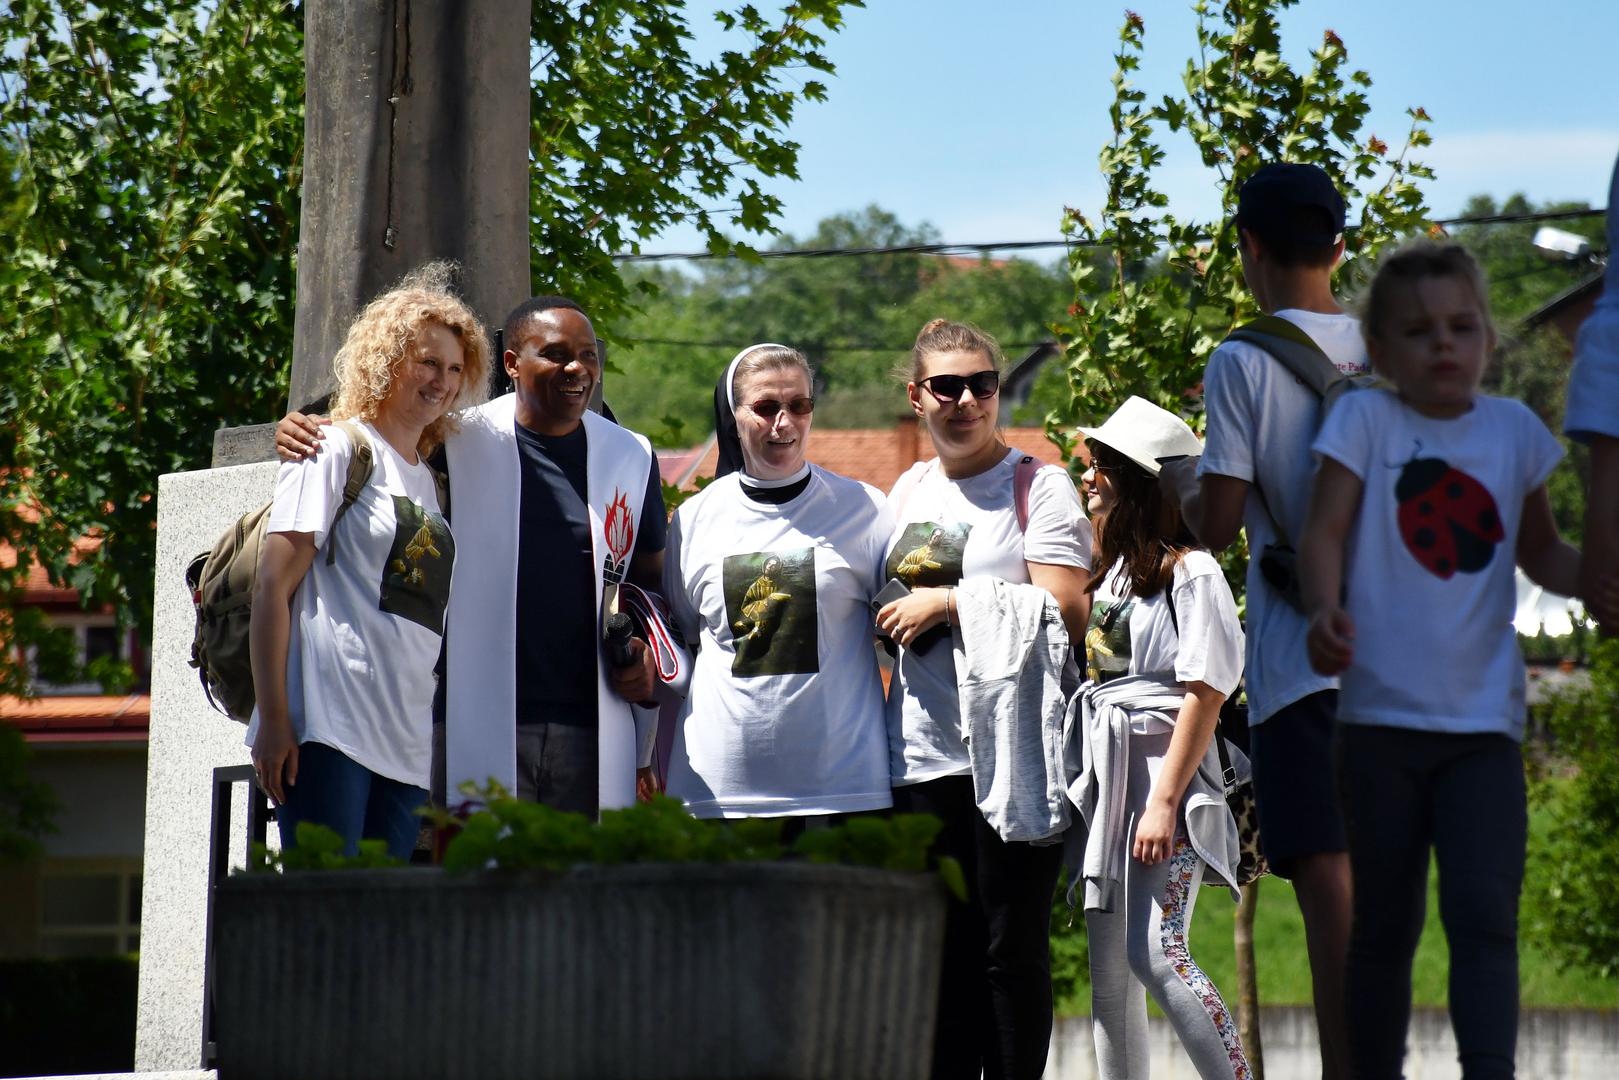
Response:
[{"label": "dark printed picture on the t-shirt of the veiled nun", "polygon": [[808,675],[816,648],[814,549],[727,555],[720,570],[737,656],[730,674]]}]

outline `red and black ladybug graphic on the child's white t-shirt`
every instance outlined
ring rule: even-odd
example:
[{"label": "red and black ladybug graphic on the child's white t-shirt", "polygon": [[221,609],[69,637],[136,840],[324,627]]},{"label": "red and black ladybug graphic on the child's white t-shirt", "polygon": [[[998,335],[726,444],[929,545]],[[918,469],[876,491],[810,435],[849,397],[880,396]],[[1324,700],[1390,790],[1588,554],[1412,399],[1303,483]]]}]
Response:
[{"label": "red and black ladybug graphic on the child's white t-shirt", "polygon": [[1478,573],[1488,567],[1496,544],[1506,539],[1494,495],[1449,461],[1412,457],[1400,466],[1394,497],[1407,551],[1446,581],[1457,570]]}]

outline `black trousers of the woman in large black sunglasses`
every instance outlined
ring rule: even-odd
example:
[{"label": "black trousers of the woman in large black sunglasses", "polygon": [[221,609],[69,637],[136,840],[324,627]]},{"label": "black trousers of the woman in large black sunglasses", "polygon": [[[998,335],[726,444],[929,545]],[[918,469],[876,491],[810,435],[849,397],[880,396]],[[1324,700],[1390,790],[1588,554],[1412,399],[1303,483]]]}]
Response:
[{"label": "black trousers of the woman in large black sunglasses", "polygon": [[934,1080],[1038,1078],[1051,1048],[1051,897],[1062,845],[1007,844],[973,801],[973,779],[894,789],[894,810],[936,814],[934,852],[962,863],[950,900],[933,1041]]}]

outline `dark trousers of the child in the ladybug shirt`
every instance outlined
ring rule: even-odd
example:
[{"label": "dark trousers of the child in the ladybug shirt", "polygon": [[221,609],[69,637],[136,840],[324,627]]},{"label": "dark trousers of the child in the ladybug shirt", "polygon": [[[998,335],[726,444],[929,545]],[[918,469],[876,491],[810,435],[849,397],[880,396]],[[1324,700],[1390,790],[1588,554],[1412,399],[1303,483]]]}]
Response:
[{"label": "dark trousers of the child in the ladybug shirt", "polygon": [[1462,1077],[1512,1077],[1528,834],[1522,748],[1506,735],[1341,724],[1339,785],[1355,876],[1345,976],[1355,1078],[1400,1077],[1430,847]]}]

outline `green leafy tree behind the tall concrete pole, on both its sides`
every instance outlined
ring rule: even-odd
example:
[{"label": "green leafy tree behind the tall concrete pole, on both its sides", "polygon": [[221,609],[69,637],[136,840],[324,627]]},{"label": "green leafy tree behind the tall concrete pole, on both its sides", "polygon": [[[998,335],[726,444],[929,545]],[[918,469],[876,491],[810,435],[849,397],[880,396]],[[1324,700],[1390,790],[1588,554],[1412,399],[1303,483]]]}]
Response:
[{"label": "green leafy tree behind the tall concrete pole, on both its sides", "polygon": [[[610,261],[670,222],[767,230],[782,130],[826,94],[860,0],[720,11],[693,57],[677,0],[533,5],[534,285],[610,319]],[[8,644],[31,563],[151,625],[155,489],[214,429],[283,408],[303,162],[303,8],[8,0],[0,18],[0,570]],[[36,520],[37,517],[37,520]],[[102,544],[81,560],[73,542]],[[34,636],[31,636],[34,635]],[[26,687],[0,649],[0,690]]]}]

